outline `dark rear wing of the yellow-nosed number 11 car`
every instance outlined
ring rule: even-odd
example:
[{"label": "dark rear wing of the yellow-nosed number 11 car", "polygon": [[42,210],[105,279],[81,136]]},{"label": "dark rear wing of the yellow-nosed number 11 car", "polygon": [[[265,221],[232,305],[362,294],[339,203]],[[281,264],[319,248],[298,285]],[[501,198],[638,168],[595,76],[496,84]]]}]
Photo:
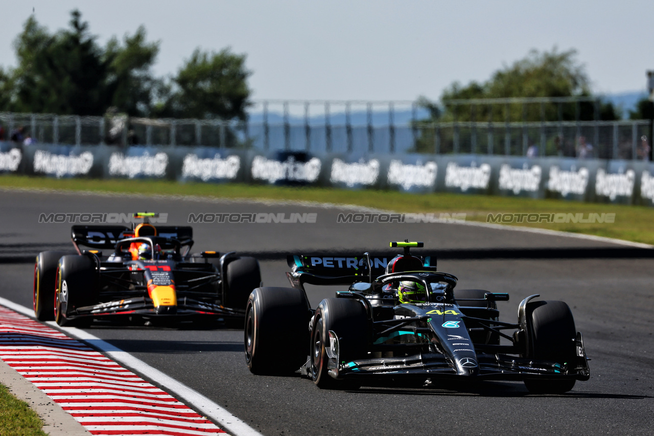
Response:
[{"label": "dark rear wing of the yellow-nosed number 11 car", "polygon": [[[193,242],[193,227],[157,226],[156,228],[160,237],[177,239],[182,245]],[[71,238],[75,247],[79,244],[95,250],[113,250],[118,241],[133,236],[133,230],[126,226],[73,226],[71,228]]]}]

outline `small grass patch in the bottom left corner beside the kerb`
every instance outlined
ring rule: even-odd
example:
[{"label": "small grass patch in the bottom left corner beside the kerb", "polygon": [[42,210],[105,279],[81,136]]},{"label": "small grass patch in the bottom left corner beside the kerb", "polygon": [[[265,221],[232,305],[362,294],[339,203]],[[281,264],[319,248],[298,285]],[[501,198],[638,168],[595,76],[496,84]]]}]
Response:
[{"label": "small grass patch in the bottom left corner beside the kerb", "polygon": [[0,384],[0,435],[45,436],[42,427],[39,415]]}]

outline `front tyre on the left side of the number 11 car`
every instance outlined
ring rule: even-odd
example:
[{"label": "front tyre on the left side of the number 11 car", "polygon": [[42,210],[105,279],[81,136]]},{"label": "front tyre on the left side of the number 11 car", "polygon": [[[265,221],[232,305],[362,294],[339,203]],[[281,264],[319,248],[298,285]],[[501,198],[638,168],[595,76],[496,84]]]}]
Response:
[{"label": "front tyre on the left side of the number 11 car", "polygon": [[90,318],[69,319],[78,307],[97,303],[98,272],[88,256],[63,256],[57,269],[54,320],[60,326],[84,326]]}]

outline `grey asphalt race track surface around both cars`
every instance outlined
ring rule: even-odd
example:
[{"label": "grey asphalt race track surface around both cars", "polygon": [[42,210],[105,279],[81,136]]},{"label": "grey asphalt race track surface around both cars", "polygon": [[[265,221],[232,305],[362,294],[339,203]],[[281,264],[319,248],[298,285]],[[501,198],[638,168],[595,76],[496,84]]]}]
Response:
[{"label": "grey asphalt race track surface around both cars", "polygon": [[[41,213],[148,210],[168,212],[168,224],[186,225],[190,212],[317,212],[315,224],[194,224],[194,251],[259,253],[269,259],[261,262],[264,284],[286,286],[282,255],[287,252],[353,247],[354,254],[375,253],[386,252],[388,241],[424,241],[424,254],[451,254],[438,266],[459,278],[459,288],[511,294],[511,301],[498,303],[500,320],[515,322],[517,305],[527,295],[566,301],[592,358],[591,379],[577,382],[564,395],[531,395],[519,382],[331,392],[299,375],[251,375],[243,357],[243,331],[88,329],[206,395],[264,435],[653,432],[654,259],[649,254],[621,252],[623,247],[606,241],[461,224],[337,224],[343,210],[292,203],[3,191],[0,204],[0,296],[26,307],[32,305],[33,263],[8,260],[70,246],[71,224],[39,224]],[[496,250],[503,250],[504,258]],[[543,251],[548,255],[538,255]],[[466,252],[476,254],[466,258]],[[527,258],[511,256],[516,252]],[[528,256],[530,252],[536,254]],[[311,304],[315,307],[333,291],[311,287]]]}]

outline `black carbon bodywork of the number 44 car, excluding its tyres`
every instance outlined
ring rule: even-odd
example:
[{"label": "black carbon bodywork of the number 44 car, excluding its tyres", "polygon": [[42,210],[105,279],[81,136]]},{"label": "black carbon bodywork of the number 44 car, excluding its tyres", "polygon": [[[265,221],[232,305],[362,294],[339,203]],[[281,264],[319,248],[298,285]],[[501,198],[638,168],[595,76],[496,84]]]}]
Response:
[{"label": "black carbon bodywork of the number 44 car, excluding its tyres", "polygon": [[[407,252],[405,251],[405,255]],[[421,258],[419,271],[389,273],[369,254],[353,256],[356,269],[324,266],[328,256],[288,256],[292,271],[286,273],[293,288],[304,284],[348,284],[349,290],[336,292],[337,299],[351,299],[365,308],[366,340],[358,355],[343,358],[341,343],[358,332],[331,331],[324,327],[320,342],[327,356],[328,375],[339,380],[364,382],[374,378],[465,378],[468,380],[588,380],[590,377],[581,333],[566,339],[574,342],[574,352],[564,361],[536,358],[534,326],[528,303],[539,295],[526,297],[519,306],[518,322],[498,320],[495,301],[508,301],[506,293],[479,291],[479,298],[456,298],[457,278],[437,271],[431,258]],[[359,261],[362,260],[360,263]],[[336,265],[336,262],[334,262]],[[354,261],[349,265],[354,266]],[[370,266],[370,267],[369,267]],[[381,273],[381,275],[380,275]],[[376,277],[373,279],[373,277]],[[428,291],[422,303],[400,303],[392,285],[402,281],[421,282]],[[391,286],[388,286],[391,285]],[[390,291],[389,291],[390,288]],[[567,306],[566,306],[567,307]],[[330,326],[330,305],[323,300],[314,314]],[[572,316],[572,315],[570,315]],[[314,325],[313,319],[311,325]],[[315,327],[313,327],[315,328]],[[505,333],[508,331],[508,334]],[[500,338],[504,344],[500,344]],[[563,344],[562,344],[563,345]],[[309,347],[309,355],[318,351]],[[572,346],[572,344],[571,344]],[[572,348],[571,348],[572,349]],[[574,354],[574,357],[572,356]],[[313,365],[313,367],[312,367]],[[311,357],[301,367],[303,375],[315,379]],[[572,385],[570,386],[572,387]]]}]

